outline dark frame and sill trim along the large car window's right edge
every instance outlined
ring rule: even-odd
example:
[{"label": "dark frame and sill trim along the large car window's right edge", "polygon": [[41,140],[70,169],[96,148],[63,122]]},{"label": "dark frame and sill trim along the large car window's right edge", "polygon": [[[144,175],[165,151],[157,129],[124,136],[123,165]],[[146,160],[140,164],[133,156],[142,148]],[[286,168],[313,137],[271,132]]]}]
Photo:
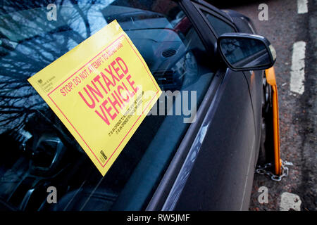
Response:
[{"label": "dark frame and sill trim along the large car window's right edge", "polygon": [[[220,63],[220,66],[211,81],[211,85],[206,92],[204,101],[202,101],[199,109],[197,110],[197,121],[189,126],[189,129],[187,130],[184,139],[182,139],[180,146],[176,151],[175,156],[173,157],[173,160],[170,162],[170,165],[166,169],[165,174],[163,174],[163,178],[157,186],[154,195],[151,196],[151,200],[149,200],[149,204],[147,205],[146,210],[163,209],[163,205],[164,203],[166,203],[166,199],[168,198],[173,184],[175,183],[175,180],[177,179],[178,174],[182,169],[182,166],[184,165],[189,150],[192,148],[194,140],[197,138],[197,136],[199,136],[199,132],[201,132],[201,126],[204,122],[205,117],[208,114],[213,113],[213,107],[211,105],[213,104],[214,97],[216,96],[217,91],[220,88],[220,84],[223,82],[225,75],[228,73],[228,67],[220,59],[220,56],[216,52],[216,39],[218,36],[211,25],[209,25],[209,22],[207,21],[204,14],[199,11],[199,8],[197,7],[203,7],[204,11],[216,15],[217,18],[220,18],[220,20],[228,23],[237,31],[237,27],[235,27],[228,15],[225,15],[225,13],[221,12],[220,10],[209,4],[199,2],[199,5],[198,3],[189,0],[180,0],[179,3],[182,7],[182,10],[186,13],[187,17],[192,22],[195,30],[199,34],[201,41],[206,46],[206,51],[210,51],[210,60],[218,61],[218,63]],[[209,117],[209,119],[211,118]]]}]

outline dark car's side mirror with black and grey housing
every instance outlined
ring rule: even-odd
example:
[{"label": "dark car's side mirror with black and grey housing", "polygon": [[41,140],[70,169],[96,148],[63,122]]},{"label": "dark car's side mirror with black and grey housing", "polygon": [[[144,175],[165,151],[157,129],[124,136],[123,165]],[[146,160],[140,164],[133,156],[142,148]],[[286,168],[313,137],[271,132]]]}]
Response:
[{"label": "dark car's side mirror with black and grey housing", "polygon": [[275,49],[260,35],[225,33],[218,37],[217,45],[231,70],[265,70],[275,63]]}]

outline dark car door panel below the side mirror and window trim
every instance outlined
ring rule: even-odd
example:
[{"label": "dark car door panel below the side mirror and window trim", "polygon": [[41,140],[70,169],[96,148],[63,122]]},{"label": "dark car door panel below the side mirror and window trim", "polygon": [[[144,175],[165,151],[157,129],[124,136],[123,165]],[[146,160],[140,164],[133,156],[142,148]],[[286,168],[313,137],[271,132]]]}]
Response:
[{"label": "dark car door panel below the side mirror and window trim", "polygon": [[172,195],[168,198],[173,201],[168,207],[167,199],[163,210],[247,209],[249,203],[244,200],[248,199],[245,194],[250,193],[246,188],[253,181],[252,162],[256,153],[254,118],[247,85],[242,72],[226,72],[192,151],[189,150],[182,168],[184,171],[181,169],[179,179],[175,181],[175,195],[180,193],[178,186],[183,186],[183,190],[175,198],[172,188]]}]

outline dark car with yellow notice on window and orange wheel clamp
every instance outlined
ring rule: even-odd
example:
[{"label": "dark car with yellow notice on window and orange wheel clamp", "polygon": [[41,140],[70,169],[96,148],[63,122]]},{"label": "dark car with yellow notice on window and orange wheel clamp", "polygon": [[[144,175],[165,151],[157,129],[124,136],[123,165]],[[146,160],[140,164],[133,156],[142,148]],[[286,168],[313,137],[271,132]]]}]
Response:
[{"label": "dark car with yellow notice on window and orange wheel clamp", "polygon": [[[282,174],[275,51],[247,17],[204,1],[56,2],[0,8],[0,210],[247,210],[257,162]],[[101,176],[27,79],[113,20],[165,95]],[[180,99],[194,101],[168,113]]]}]

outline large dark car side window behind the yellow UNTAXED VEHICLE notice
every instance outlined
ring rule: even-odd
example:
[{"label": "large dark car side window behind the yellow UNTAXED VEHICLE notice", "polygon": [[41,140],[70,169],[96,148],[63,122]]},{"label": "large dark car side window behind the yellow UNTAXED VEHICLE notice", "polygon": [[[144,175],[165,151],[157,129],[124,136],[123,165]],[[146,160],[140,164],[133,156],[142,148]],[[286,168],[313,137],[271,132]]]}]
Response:
[{"label": "large dark car side window behind the yellow UNTAXED VEHICLE notice", "polygon": [[[44,1],[0,8],[0,208],[142,209],[209,88],[206,49],[173,1],[56,1],[56,18],[49,12]],[[27,79],[115,19],[166,94],[101,176]]]}]

